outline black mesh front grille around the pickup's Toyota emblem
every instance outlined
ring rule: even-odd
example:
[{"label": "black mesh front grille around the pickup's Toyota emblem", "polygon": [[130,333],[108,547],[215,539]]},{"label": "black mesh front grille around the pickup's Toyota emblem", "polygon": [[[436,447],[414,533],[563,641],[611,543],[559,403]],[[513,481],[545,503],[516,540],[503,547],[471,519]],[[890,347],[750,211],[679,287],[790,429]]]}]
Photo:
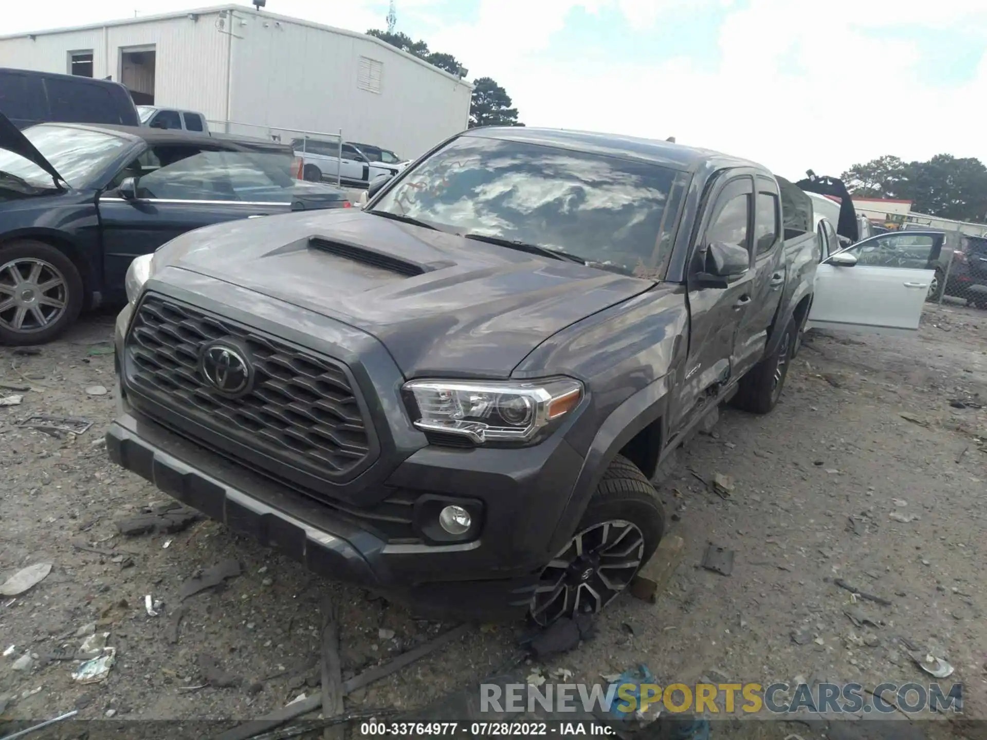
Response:
[{"label": "black mesh front grille around the pickup's Toyota emblem", "polygon": [[[202,352],[217,340],[241,349],[253,367],[253,385],[240,398],[202,373]],[[341,362],[226,318],[149,294],[127,336],[124,368],[129,389],[169,409],[172,424],[192,437],[205,428],[229,439],[251,467],[272,460],[343,481],[373,462],[369,424]]]}]

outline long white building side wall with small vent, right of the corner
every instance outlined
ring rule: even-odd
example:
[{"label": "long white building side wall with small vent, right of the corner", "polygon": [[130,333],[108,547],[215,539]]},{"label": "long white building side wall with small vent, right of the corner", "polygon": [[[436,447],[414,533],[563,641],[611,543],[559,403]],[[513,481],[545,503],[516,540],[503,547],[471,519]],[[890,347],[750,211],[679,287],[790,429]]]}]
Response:
[{"label": "long white building side wall with small vent, right of the corner", "polygon": [[349,141],[407,158],[466,128],[471,90],[464,83],[368,38],[263,14],[235,15],[232,120],[309,131],[342,128]]}]

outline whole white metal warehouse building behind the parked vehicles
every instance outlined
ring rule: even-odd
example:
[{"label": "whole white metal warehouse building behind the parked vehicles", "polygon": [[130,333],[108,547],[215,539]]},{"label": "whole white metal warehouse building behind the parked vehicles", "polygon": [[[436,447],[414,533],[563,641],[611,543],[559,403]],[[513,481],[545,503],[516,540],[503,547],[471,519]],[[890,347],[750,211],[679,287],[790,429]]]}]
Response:
[{"label": "whole white metal warehouse building behind the parked vehicles", "polygon": [[241,5],[0,37],[0,67],[110,78],[213,130],[342,131],[403,158],[466,128],[473,91],[378,38]]}]

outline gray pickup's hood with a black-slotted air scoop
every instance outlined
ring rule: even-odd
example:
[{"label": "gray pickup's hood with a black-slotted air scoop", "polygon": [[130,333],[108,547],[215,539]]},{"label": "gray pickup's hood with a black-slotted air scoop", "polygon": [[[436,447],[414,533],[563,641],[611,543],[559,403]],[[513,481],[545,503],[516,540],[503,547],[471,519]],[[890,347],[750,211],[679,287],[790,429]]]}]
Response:
[{"label": "gray pickup's hood with a black-slotted air scoop", "polygon": [[370,333],[406,377],[507,377],[554,333],[654,284],[355,209],[199,229],[158,251],[155,278],[171,268]]}]

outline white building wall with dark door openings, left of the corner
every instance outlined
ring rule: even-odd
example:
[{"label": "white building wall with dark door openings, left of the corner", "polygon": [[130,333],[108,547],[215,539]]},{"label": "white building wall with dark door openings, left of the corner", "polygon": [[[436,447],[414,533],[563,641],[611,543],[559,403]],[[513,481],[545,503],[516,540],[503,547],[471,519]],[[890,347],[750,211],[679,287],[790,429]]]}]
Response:
[{"label": "white building wall with dark door openings, left of the corner", "polygon": [[[148,20],[103,29],[30,37],[0,38],[0,67],[68,72],[69,51],[93,50],[93,77],[113,76],[120,82],[120,51],[152,46],[155,50],[154,101],[225,118],[230,36],[217,28],[218,14],[202,14],[196,20],[180,18]],[[147,80],[141,80],[146,85]]]}]

